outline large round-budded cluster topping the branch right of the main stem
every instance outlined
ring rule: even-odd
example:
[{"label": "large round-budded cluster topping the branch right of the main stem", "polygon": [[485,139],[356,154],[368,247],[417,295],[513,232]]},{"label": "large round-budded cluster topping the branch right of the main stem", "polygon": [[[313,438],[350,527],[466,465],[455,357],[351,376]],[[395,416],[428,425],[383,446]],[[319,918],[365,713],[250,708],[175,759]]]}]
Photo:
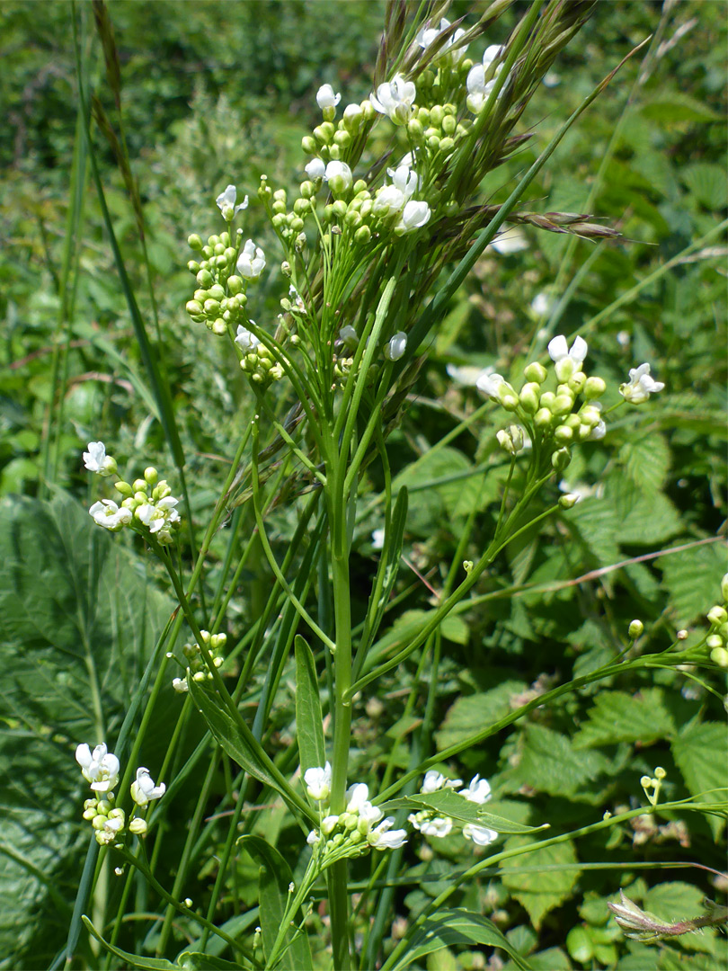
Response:
[{"label": "large round-budded cluster topping the branch right of the main stem", "polygon": [[[557,472],[569,464],[572,445],[604,438],[607,431],[602,419],[602,406],[597,400],[604,394],[607,385],[602,378],[584,374],[582,364],[586,352],[586,342],[580,337],[571,348],[562,335],[550,341],[548,354],[556,376],[555,390],[544,389],[547,371],[538,361],[526,367],[526,383],[519,391],[499,374],[484,374],[478,380],[480,390],[521,419],[534,440],[549,444],[551,463]],[[583,402],[575,410],[579,394]],[[524,447],[526,438],[517,425],[512,425],[499,435],[498,441],[506,452],[515,454]],[[562,498],[566,505],[572,497]]]}]

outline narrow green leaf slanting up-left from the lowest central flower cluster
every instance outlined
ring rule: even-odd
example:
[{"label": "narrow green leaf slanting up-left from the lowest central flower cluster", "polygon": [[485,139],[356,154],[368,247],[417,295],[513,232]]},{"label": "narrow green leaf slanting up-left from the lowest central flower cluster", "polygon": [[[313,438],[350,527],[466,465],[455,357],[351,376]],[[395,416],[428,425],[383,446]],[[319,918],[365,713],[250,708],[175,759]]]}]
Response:
[{"label": "narrow green leaf slanting up-left from the lowest central flower cluster", "polygon": [[317,822],[317,814],[314,814],[299,794],[290,787],[280,770],[263,751],[260,743],[255,740],[245,722],[233,720],[224,702],[215,692],[201,686],[194,678],[188,680],[192,700],[224,751],[253,779],[279,792],[291,809],[299,809],[309,820]]}]

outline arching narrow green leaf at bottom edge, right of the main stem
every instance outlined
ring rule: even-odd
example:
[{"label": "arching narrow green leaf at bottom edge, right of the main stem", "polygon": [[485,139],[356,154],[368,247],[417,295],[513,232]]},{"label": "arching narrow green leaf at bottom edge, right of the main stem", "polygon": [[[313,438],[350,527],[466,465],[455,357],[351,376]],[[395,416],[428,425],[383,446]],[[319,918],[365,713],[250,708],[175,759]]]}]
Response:
[{"label": "arching narrow green leaf at bottom edge, right of the main stem", "polygon": [[472,948],[480,944],[488,948],[501,948],[513,959],[514,964],[529,971],[530,965],[512,945],[493,921],[466,910],[440,911],[437,917],[429,917],[414,932],[410,949],[400,957],[392,971],[403,971],[413,961],[443,948],[461,945]]}]

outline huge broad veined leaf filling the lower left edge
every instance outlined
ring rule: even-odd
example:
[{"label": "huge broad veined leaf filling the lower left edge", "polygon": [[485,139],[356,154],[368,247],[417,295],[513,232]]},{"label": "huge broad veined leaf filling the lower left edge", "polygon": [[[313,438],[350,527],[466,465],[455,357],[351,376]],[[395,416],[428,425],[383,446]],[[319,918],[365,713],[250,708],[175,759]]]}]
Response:
[{"label": "huge broad veined leaf filling the lower left edge", "polygon": [[[0,968],[47,966],[67,937],[90,838],[74,750],[114,751],[171,611],[70,496],[0,501]],[[167,743],[160,733],[146,757]]]}]

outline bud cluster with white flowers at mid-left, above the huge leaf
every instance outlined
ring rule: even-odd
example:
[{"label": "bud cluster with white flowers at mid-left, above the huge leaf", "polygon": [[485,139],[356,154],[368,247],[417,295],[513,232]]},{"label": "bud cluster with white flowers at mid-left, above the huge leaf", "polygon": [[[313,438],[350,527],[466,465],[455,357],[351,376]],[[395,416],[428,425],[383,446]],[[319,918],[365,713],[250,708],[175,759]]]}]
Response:
[{"label": "bud cluster with white flowers at mid-left, above the huge leaf", "polygon": [[[116,459],[106,454],[103,442],[89,442],[88,452],[83,452],[85,468],[97,475],[109,476],[116,473]],[[179,499],[172,496],[167,482],[159,480],[159,474],[152,466],[145,469],[144,479],[133,483],[119,480],[116,491],[123,496],[121,505],[113,499],[101,499],[88,510],[89,516],[98,526],[118,532],[124,526],[132,526],[138,532],[151,534],[159,543],[173,542],[173,530],[180,526],[180,514],[175,509]]]}]

